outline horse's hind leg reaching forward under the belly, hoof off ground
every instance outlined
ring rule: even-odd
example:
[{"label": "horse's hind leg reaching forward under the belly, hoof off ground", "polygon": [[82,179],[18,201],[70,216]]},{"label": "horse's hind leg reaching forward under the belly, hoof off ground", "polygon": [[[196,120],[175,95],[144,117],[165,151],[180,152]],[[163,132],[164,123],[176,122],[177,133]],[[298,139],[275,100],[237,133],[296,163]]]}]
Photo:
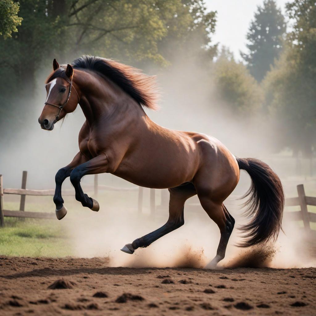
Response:
[{"label": "horse's hind leg reaching forward under the belly, hoof off ground", "polygon": [[167,223],[155,231],[137,238],[131,244],[126,244],[121,251],[132,254],[137,248],[147,247],[155,240],[184,225],[184,204],[189,197],[196,194],[195,187],[193,184],[187,183],[171,188],[169,192],[169,218]]}]

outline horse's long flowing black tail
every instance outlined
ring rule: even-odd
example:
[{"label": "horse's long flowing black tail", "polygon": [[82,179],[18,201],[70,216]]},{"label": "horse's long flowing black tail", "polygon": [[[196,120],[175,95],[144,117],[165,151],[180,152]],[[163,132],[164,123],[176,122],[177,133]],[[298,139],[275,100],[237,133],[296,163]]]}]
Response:
[{"label": "horse's long flowing black tail", "polygon": [[[246,216],[253,216],[249,224],[240,230],[247,233],[240,247],[249,247],[270,239],[276,240],[283,216],[284,193],[281,180],[264,162],[253,158],[237,158],[240,169],[249,173],[251,187],[242,197],[249,197],[245,203]],[[281,228],[282,229],[282,228]]]}]

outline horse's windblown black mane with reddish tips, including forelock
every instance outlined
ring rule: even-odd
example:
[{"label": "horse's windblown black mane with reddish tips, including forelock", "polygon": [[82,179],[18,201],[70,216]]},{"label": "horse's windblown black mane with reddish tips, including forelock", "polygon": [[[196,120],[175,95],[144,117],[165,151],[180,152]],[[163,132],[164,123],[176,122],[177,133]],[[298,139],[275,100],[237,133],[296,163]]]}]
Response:
[{"label": "horse's windblown black mane with reddish tips, including forelock", "polygon": [[[74,69],[81,68],[99,72],[129,94],[139,105],[157,110],[158,91],[155,86],[155,76],[147,76],[139,69],[97,56],[84,55],[76,58],[71,65]],[[56,77],[65,77],[63,67],[54,71],[46,82]]]}]

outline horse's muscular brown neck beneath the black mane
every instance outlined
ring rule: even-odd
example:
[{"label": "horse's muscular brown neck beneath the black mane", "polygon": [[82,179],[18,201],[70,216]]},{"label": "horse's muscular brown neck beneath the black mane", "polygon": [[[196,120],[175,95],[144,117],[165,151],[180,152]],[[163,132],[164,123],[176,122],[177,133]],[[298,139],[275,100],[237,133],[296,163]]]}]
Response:
[{"label": "horse's muscular brown neck beneath the black mane", "polygon": [[135,100],[106,78],[92,72],[75,70],[74,82],[81,91],[79,105],[89,126],[109,117],[111,119],[107,124],[121,123],[123,119],[130,123],[143,116],[147,117]]}]

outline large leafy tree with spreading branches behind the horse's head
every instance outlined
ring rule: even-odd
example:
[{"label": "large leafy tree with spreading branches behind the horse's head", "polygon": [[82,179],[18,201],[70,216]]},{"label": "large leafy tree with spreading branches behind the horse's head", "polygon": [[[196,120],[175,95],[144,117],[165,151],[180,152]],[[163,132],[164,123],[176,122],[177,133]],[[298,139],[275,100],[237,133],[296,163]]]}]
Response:
[{"label": "large leafy tree with spreading branches behind the horse's head", "polygon": [[188,34],[203,33],[196,40],[201,50],[209,44],[215,27],[215,13],[207,13],[202,1],[21,0],[21,16],[19,32],[0,41],[0,60],[21,84],[28,82],[24,87],[30,95],[35,89],[35,71],[44,60],[95,54],[126,62],[167,64],[162,55],[168,55],[167,49],[163,51],[161,41],[168,35],[174,39],[177,34],[175,43],[180,46],[184,39],[188,41]]}]

